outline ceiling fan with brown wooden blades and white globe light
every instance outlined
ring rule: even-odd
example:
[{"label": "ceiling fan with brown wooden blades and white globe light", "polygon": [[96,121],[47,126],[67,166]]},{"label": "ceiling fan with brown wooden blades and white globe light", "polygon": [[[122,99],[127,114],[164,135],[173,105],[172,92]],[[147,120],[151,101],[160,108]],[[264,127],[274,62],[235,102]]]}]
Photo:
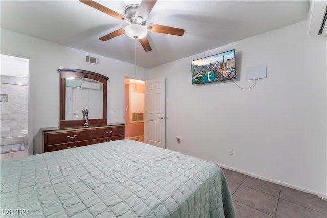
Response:
[{"label": "ceiling fan with brown wooden blades and white globe light", "polygon": [[156,33],[165,33],[170,35],[182,36],[184,35],[185,30],[169,27],[159,24],[146,24],[146,20],[156,4],[157,0],[142,0],[142,2],[138,4],[130,4],[125,7],[125,15],[117,13],[95,1],[92,0],[80,0],[80,2],[95,8],[99,11],[102,11],[116,19],[126,21],[128,25],[124,28],[120,28],[112,33],[109,33],[100,38],[102,41],[107,41],[116,36],[120,36],[122,34],[126,34],[130,38],[137,39],[141,43],[143,49],[148,52],[151,51],[151,46],[149,40],[147,38],[148,31],[156,32]]}]

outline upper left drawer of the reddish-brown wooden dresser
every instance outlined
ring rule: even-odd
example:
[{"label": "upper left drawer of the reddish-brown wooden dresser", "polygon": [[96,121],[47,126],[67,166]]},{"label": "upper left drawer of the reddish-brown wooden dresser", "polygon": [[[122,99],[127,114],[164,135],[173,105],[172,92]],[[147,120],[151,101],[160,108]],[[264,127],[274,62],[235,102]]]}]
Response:
[{"label": "upper left drawer of the reddish-brown wooden dresser", "polygon": [[48,145],[61,144],[61,143],[67,143],[67,142],[76,142],[76,141],[83,141],[83,140],[91,140],[91,139],[92,139],[92,129],[69,131],[69,132],[59,132],[59,133],[49,133],[48,134]]}]

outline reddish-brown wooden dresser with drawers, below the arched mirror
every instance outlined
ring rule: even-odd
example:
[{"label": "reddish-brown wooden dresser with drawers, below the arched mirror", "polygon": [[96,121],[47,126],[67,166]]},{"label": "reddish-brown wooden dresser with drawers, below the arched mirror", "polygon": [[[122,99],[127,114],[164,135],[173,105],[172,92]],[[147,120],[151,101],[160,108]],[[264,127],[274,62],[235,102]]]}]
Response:
[{"label": "reddish-brown wooden dresser with drawers, below the arched mirror", "polygon": [[104,126],[42,128],[44,152],[75,148],[124,139],[125,124]]}]

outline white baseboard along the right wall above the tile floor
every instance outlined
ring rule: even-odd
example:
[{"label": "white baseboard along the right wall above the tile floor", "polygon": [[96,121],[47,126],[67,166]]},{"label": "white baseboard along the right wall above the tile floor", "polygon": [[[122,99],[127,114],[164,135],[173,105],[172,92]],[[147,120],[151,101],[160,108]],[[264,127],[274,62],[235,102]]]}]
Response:
[{"label": "white baseboard along the right wall above the tile floor", "polygon": [[225,165],[222,165],[222,164],[218,164],[218,163],[214,163],[214,162],[212,162],[212,163],[216,164],[217,166],[219,166],[221,168],[225,168],[225,169],[229,169],[229,170],[232,170],[232,171],[240,172],[240,173],[243,173],[245,175],[255,177],[255,178],[258,178],[258,179],[261,179],[261,180],[264,180],[264,181],[272,182],[272,183],[282,185],[282,186],[285,186],[285,187],[288,187],[288,188],[293,188],[293,189],[296,189],[296,190],[299,190],[299,191],[303,191],[303,192],[306,192],[306,193],[309,193],[309,194],[313,194],[313,195],[316,195],[316,196],[318,196],[320,198],[327,198],[327,194],[324,194],[324,193],[316,192],[316,191],[313,191],[313,190],[310,190],[310,189],[302,188],[302,187],[292,185],[292,184],[288,184],[288,183],[285,183],[285,182],[269,179],[269,178],[266,178],[266,177],[262,177],[262,176],[259,176],[259,175],[256,175],[256,174],[253,174],[253,173],[250,173],[250,172],[246,172],[246,171],[239,170],[239,169],[236,169],[236,168],[232,168],[232,167],[229,167],[229,166],[225,166]]}]

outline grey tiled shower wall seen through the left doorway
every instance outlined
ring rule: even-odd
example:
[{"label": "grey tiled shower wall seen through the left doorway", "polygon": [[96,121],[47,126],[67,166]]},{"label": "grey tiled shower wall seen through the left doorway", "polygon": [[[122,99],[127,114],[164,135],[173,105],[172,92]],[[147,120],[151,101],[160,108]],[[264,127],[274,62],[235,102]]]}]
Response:
[{"label": "grey tiled shower wall seen through the left doorway", "polygon": [[2,145],[27,142],[21,131],[28,129],[28,89],[28,78],[0,75],[0,93],[7,95],[0,103]]}]

